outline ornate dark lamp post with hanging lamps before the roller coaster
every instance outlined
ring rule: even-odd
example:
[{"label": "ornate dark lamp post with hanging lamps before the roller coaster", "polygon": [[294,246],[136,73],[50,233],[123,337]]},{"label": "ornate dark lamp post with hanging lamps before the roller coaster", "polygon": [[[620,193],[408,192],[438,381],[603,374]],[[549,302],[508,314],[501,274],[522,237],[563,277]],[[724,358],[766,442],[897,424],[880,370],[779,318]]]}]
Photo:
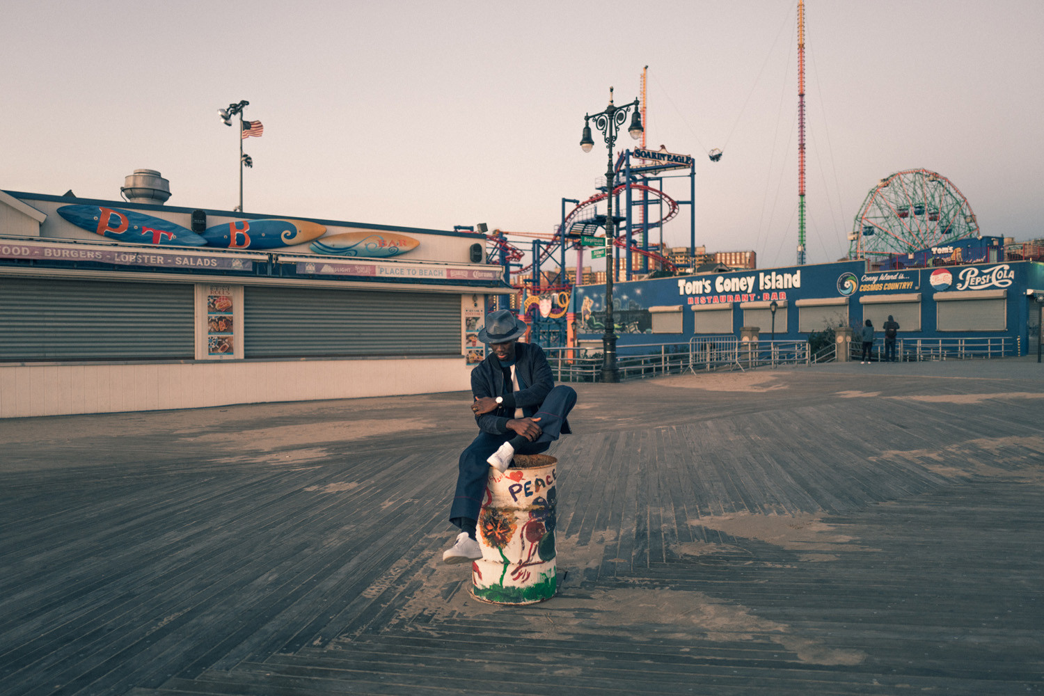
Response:
[{"label": "ornate dark lamp post with hanging lamps before the roller coaster", "polygon": [[[631,126],[627,133],[634,139],[641,138],[642,117],[638,111],[638,99],[628,104],[615,106],[613,104],[613,88],[609,88],[609,106],[606,111],[597,114],[584,115],[584,135],[580,137],[580,147],[585,152],[590,152],[594,146],[591,140],[591,119],[594,119],[595,127],[606,137],[606,145],[609,147],[609,168],[606,170],[606,200],[609,207],[606,212],[606,332],[601,335],[601,380],[602,382],[619,382],[620,373],[616,367],[616,332],[613,323],[613,242],[616,238],[616,224],[613,220],[613,146],[616,144],[616,134],[623,122],[627,120],[627,112],[634,107],[635,115],[631,119]],[[625,251],[631,254],[631,249]]]}]

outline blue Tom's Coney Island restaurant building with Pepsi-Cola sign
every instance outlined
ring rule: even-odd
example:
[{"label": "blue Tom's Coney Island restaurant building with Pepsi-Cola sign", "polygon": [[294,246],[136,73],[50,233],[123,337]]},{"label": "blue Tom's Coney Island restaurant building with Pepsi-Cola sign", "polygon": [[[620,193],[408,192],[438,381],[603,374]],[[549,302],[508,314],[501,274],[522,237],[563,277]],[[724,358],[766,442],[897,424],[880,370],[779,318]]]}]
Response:
[{"label": "blue Tom's Coney Island restaurant building with Pepsi-Cola sign", "polygon": [[[758,327],[761,340],[803,340],[867,319],[880,330],[889,315],[900,338],[1007,337],[1025,354],[1039,326],[1033,290],[1044,290],[1044,264],[1031,261],[874,271],[845,261],[621,282],[613,318],[621,354],[639,343],[738,336],[743,327]],[[574,288],[578,341],[600,340],[604,302],[604,285]]]}]

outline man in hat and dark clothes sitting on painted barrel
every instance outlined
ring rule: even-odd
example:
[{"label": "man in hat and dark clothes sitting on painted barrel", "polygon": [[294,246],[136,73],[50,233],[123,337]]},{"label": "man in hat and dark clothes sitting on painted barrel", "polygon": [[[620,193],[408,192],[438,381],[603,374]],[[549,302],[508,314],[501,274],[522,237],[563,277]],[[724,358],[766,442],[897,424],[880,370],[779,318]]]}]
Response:
[{"label": "man in hat and dark clothes sitting on painted barrel", "polygon": [[511,311],[485,316],[478,340],[490,354],[471,370],[471,410],[478,437],[460,454],[456,494],[450,522],[460,529],[456,543],[443,553],[447,563],[482,557],[475,525],[482,506],[490,466],[503,473],[518,454],[545,452],[560,433],[571,433],[566,415],[576,404],[576,392],[554,386],[551,366],[539,345],[520,343],[526,325]]}]

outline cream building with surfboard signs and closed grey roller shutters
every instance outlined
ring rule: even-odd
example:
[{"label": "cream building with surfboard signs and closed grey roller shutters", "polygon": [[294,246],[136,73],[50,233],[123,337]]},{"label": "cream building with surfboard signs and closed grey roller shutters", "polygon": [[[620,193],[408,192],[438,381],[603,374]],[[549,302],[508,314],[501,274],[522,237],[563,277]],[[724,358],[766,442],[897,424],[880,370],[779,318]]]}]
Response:
[{"label": "cream building with surfboard signs and closed grey roller shutters", "polygon": [[462,389],[508,292],[472,233],[145,193],[0,191],[0,417]]}]

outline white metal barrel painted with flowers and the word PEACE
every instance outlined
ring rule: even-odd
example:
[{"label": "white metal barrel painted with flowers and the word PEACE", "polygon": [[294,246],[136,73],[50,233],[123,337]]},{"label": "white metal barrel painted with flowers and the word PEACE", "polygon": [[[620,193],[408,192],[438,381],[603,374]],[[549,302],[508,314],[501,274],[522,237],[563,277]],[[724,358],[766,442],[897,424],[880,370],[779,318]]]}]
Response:
[{"label": "white metal barrel painted with flowers and the word PEACE", "polygon": [[557,464],[545,454],[519,454],[503,474],[490,467],[476,534],[482,558],[471,567],[475,599],[533,604],[554,597]]}]

